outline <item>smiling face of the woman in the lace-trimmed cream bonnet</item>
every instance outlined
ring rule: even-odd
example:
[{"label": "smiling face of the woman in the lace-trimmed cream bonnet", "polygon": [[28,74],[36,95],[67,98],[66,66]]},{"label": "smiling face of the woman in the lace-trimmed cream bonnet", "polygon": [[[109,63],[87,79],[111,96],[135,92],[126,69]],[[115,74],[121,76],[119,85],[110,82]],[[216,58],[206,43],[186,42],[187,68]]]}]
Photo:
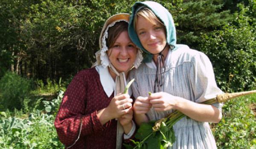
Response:
[{"label": "smiling face of the woman in the lace-trimmed cream bonnet", "polygon": [[113,46],[107,51],[108,59],[117,72],[127,72],[133,66],[138,49],[131,42],[128,32],[123,31],[116,38]]}]

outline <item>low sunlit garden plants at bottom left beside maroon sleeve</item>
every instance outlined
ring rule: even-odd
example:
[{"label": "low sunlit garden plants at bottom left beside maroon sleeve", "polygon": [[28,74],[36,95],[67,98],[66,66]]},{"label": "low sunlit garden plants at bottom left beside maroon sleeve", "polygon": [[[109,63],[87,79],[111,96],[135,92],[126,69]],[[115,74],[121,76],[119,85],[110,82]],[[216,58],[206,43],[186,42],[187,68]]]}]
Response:
[{"label": "low sunlit garden plants at bottom left beside maroon sleeve", "polygon": [[[16,112],[14,117],[6,118],[7,114],[0,119],[0,148],[1,149],[61,149],[63,144],[58,140],[54,127],[55,114],[61,103],[63,92],[54,99],[50,112],[45,113],[38,109],[33,110],[29,117],[18,117],[23,112]],[[51,103],[51,102],[49,102]],[[52,104],[51,104],[52,105]],[[49,104],[45,104],[48,109]],[[5,112],[4,112],[5,113]]]}]

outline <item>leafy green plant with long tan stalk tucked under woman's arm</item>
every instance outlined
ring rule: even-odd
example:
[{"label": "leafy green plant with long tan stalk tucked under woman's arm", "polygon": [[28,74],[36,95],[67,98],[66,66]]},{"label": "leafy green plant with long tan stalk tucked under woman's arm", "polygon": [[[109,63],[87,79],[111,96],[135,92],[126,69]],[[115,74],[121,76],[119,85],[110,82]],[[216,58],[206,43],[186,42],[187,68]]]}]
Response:
[{"label": "leafy green plant with long tan stalk tucked under woman's arm", "polygon": [[[217,95],[216,98],[203,102],[203,104],[212,104],[216,102],[223,103],[227,100],[252,93],[256,93],[256,90],[224,93]],[[148,92],[148,94],[151,95],[151,92]],[[170,115],[160,120],[143,123],[135,135],[135,138],[139,141],[132,140],[135,146],[125,144],[125,147],[127,149],[166,149],[168,146],[172,146],[175,142],[175,133],[172,126],[184,116],[183,113],[175,110]]]}]

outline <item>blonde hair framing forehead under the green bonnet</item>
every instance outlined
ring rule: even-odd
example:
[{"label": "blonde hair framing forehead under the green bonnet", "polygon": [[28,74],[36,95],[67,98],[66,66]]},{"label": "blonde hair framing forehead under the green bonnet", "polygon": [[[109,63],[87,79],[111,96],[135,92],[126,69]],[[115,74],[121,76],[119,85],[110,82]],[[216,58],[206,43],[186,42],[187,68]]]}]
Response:
[{"label": "blonde hair framing forehead under the green bonnet", "polygon": [[[149,9],[148,7],[141,8],[136,15],[134,15],[134,30],[136,31],[136,24],[138,17],[144,17],[147,19],[150,23],[156,24],[156,21],[164,26],[163,22],[154,14],[154,12]],[[166,28],[164,28],[166,30]],[[137,32],[137,31],[136,31]]]}]

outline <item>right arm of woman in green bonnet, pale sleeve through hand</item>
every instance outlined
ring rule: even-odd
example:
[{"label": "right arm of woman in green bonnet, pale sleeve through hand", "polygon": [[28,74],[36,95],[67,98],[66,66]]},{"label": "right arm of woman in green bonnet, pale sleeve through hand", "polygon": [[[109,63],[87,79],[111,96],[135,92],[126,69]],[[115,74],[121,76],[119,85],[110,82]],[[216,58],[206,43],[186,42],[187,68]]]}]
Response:
[{"label": "right arm of woman in green bonnet, pale sleeve through hand", "polygon": [[160,92],[149,97],[150,103],[157,111],[177,109],[192,119],[218,123],[222,117],[221,103],[213,104],[214,106],[201,104],[222,93],[216,85],[212,64],[203,53],[196,55],[192,64],[189,72],[189,87],[194,93],[195,102]]}]

